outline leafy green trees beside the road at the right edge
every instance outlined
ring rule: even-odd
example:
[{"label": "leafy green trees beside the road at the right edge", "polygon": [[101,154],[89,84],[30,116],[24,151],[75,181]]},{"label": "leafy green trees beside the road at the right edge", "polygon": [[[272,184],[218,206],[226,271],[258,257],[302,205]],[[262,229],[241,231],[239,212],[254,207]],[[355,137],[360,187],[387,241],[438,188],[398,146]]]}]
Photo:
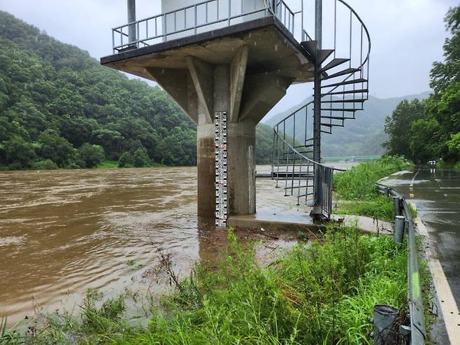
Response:
[{"label": "leafy green trees beside the road at the right edge", "polygon": [[450,8],[445,25],[452,36],[443,45],[445,61],[433,63],[433,93],[423,101],[402,101],[385,121],[390,155],[417,163],[460,160],[460,6]]}]

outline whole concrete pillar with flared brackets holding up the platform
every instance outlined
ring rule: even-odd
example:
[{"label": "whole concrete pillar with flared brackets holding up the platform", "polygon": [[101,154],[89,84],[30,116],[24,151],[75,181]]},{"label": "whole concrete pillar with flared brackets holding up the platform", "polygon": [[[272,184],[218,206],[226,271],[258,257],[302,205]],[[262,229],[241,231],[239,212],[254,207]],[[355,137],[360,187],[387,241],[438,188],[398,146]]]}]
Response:
[{"label": "whole concrete pillar with flared brackets holding up the platform", "polygon": [[247,46],[230,64],[208,64],[185,57],[187,69],[146,67],[197,126],[198,216],[215,221],[215,124],[217,111],[227,112],[228,216],[256,211],[256,124],[285,95],[291,79],[271,72],[246,73]]}]

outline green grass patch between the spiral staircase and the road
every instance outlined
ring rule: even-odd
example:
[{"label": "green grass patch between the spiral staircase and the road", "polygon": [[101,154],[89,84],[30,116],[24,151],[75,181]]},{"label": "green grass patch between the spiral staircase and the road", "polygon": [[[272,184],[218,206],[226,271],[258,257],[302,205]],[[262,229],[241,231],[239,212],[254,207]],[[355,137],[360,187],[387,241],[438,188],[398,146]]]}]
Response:
[{"label": "green grass patch between the spiral staircase and the road", "polygon": [[382,157],[366,162],[334,175],[333,190],[336,192],[336,213],[355,214],[391,221],[394,218],[391,198],[381,195],[375,183],[385,176],[412,164],[401,157]]}]

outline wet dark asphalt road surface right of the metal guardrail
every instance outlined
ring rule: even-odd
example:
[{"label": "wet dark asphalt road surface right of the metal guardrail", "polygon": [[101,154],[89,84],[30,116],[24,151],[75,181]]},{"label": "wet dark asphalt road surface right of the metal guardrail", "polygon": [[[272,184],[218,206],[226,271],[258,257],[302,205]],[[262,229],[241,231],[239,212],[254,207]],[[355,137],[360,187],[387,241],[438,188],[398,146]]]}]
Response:
[{"label": "wet dark asphalt road surface right of the metal guardrail", "polygon": [[421,167],[384,181],[417,206],[460,305],[460,171]]}]

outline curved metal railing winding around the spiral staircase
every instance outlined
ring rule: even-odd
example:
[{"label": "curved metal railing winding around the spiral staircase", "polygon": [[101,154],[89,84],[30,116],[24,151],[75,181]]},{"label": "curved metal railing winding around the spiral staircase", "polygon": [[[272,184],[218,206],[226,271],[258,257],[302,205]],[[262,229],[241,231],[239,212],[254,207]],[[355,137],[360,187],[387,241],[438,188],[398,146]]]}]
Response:
[{"label": "curved metal railing winding around the spiral staircase", "polygon": [[[326,48],[325,45],[330,44],[333,48],[333,54],[324,61],[324,70],[320,70],[322,79],[327,80],[327,84],[321,85],[322,92],[319,102],[321,105],[321,132],[329,134],[332,133],[332,127],[343,127],[345,120],[354,119],[355,111],[363,109],[363,103],[368,99],[368,65],[371,52],[371,38],[361,17],[343,0],[330,0],[330,2],[333,6],[333,31],[329,36],[324,37],[323,35],[322,46]],[[301,3],[303,13],[303,1]],[[338,12],[340,11],[342,11],[341,17],[345,17],[347,20],[344,25],[339,27]],[[310,20],[308,18],[303,19],[306,22],[315,21],[314,17]],[[346,34],[345,37],[340,36],[343,33]],[[303,24],[301,36],[303,41],[312,41]],[[316,45],[312,50],[317,48]],[[329,63],[331,64],[329,65]],[[313,121],[310,122],[308,119],[313,119],[314,106],[314,101],[309,101],[273,127],[271,175],[273,179],[276,179],[277,186],[279,186],[280,180],[283,180],[285,189],[294,194],[294,178],[297,177],[296,163],[301,162],[302,165],[303,162],[309,162],[312,164],[315,169],[311,169],[311,176],[308,175],[308,179],[303,183],[308,191],[299,192],[299,195],[305,196],[309,206],[319,207],[323,216],[329,218],[332,193],[332,183],[329,181],[329,176],[332,176],[333,171],[329,173],[323,168],[317,168],[324,167],[324,165],[312,160],[315,134],[313,133],[313,123],[311,123]],[[292,171],[292,174],[289,173],[288,169]],[[317,178],[315,178],[315,174],[317,174]],[[288,181],[289,178],[291,181]],[[299,178],[303,178],[303,175],[299,175]],[[299,185],[296,186],[298,190]]]}]

